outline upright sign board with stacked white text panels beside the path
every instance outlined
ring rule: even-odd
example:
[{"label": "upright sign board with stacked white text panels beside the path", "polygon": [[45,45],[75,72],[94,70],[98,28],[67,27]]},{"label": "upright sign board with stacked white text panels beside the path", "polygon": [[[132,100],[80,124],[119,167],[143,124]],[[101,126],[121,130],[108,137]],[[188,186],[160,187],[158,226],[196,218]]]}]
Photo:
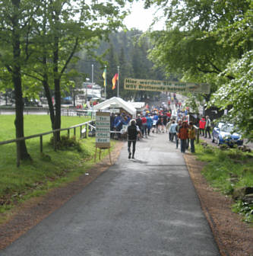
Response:
[{"label": "upright sign board with stacked white text panels beside the path", "polygon": [[110,147],[110,114],[109,112],[96,112],[96,147]]}]

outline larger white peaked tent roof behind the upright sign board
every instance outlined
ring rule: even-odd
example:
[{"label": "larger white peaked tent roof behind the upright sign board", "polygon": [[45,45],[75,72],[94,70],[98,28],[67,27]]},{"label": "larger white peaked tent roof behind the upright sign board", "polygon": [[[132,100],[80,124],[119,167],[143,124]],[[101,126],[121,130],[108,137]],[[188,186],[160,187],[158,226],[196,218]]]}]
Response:
[{"label": "larger white peaked tent roof behind the upright sign board", "polygon": [[93,110],[109,110],[110,108],[122,108],[132,117],[136,117],[136,108],[122,98],[112,97],[93,106]]}]

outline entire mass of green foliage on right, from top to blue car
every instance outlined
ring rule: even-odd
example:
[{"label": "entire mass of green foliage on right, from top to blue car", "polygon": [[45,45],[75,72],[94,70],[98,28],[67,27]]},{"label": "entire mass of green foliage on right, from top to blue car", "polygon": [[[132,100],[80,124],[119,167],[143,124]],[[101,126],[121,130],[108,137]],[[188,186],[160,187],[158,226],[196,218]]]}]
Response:
[{"label": "entire mass of green foliage on right, from top to blue car", "polygon": [[150,34],[150,59],[167,74],[209,83],[209,106],[231,109],[227,118],[252,139],[253,1],[146,1],[154,3],[167,20],[166,30]]}]

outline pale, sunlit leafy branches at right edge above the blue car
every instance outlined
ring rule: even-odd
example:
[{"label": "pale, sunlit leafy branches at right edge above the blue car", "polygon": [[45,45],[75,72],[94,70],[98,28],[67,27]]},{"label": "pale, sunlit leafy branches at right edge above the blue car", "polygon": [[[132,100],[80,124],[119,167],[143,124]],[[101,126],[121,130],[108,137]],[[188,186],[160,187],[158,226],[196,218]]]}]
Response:
[{"label": "pale, sunlit leafy branches at right edge above the blue car", "polygon": [[243,136],[253,140],[253,50],[242,59],[233,59],[224,73],[235,78],[221,85],[209,104],[230,109],[226,119],[233,120]]}]

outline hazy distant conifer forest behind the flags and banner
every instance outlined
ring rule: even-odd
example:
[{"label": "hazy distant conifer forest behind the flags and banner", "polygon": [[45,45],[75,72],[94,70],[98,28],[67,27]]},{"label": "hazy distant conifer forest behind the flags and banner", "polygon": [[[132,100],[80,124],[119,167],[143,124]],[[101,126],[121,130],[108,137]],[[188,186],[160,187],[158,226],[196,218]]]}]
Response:
[{"label": "hazy distant conifer forest behind the flags and banner", "polygon": [[[100,59],[88,56],[84,51],[78,53],[80,59],[75,69],[85,72],[90,76],[90,66],[94,64],[94,82],[103,85],[103,70],[107,67],[106,96],[117,96],[117,88],[112,90],[112,77],[118,72],[119,66],[119,96],[125,100],[152,97],[157,92],[129,91],[124,89],[125,78],[159,79],[165,78],[163,70],[155,69],[153,62],[147,58],[151,44],[147,36],[140,30],[120,31],[109,34],[109,41],[103,40],[94,55]],[[83,61],[84,59],[84,61]],[[85,61],[86,60],[86,61]]]}]

